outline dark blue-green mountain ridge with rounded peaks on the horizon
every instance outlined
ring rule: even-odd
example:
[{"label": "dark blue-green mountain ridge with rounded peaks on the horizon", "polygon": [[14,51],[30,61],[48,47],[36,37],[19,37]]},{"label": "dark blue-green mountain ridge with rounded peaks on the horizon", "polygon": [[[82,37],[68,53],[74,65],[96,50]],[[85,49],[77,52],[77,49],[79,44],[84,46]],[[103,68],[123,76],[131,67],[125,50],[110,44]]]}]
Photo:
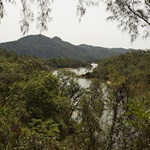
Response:
[{"label": "dark blue-green mountain ridge with rounded peaks on the horizon", "polygon": [[0,48],[18,54],[35,55],[42,58],[72,58],[76,60],[96,60],[131,51],[123,48],[103,48],[91,45],[73,45],[59,37],[29,35],[17,41],[1,43]]}]

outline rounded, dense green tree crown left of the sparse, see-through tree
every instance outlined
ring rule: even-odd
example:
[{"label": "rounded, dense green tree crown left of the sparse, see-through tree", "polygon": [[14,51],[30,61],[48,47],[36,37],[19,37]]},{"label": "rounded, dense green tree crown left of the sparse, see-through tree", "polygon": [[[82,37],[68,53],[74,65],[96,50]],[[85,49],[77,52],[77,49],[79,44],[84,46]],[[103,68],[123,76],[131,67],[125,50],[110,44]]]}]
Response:
[{"label": "rounded, dense green tree crown left of the sparse, see-through tree", "polygon": [[31,118],[47,119],[55,116],[57,86],[57,79],[51,74],[38,76],[25,84],[23,98]]}]

